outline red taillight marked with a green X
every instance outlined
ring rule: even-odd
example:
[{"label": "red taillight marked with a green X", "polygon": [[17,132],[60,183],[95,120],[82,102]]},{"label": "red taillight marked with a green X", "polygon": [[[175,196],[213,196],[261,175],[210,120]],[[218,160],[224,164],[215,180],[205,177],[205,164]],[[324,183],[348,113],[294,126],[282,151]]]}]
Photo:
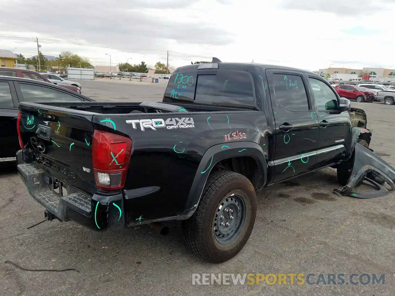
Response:
[{"label": "red taillight marked with a green X", "polygon": [[124,187],[132,140],[106,131],[94,131],[92,165],[96,185],[102,189]]}]

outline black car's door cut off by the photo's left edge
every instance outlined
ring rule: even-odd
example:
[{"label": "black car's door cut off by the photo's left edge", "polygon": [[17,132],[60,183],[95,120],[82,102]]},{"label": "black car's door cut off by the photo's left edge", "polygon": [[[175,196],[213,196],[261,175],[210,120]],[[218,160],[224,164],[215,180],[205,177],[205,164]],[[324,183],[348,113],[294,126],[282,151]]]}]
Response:
[{"label": "black car's door cut off by the photo's left edge", "polygon": [[21,149],[17,133],[18,112],[13,82],[0,79],[0,164],[15,160],[17,150]]}]

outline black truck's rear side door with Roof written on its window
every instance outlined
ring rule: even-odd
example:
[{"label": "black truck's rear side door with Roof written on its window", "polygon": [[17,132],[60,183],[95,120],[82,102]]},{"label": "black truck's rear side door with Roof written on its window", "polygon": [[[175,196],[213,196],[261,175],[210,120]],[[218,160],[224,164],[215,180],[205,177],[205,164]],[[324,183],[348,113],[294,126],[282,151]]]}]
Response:
[{"label": "black truck's rear side door with Roof written on its window", "polygon": [[267,70],[275,118],[276,148],[273,182],[309,172],[316,164],[318,117],[308,99],[308,84],[301,72]]}]

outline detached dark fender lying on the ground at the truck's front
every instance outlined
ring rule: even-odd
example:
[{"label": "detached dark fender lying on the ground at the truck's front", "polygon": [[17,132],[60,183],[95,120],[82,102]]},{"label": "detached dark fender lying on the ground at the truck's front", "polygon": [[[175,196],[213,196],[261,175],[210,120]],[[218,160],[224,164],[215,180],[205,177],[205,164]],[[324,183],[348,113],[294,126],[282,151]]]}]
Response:
[{"label": "detached dark fender lying on the ground at the truck's front", "polygon": [[[363,180],[371,183],[377,190],[364,193],[355,192],[355,187],[360,185]],[[391,191],[394,191],[394,181],[395,169],[371,150],[357,143],[355,145],[354,165],[347,185],[334,189],[334,192],[338,195],[348,195],[359,199],[372,199],[389,194],[389,191],[383,186],[385,183],[391,186]]]}]

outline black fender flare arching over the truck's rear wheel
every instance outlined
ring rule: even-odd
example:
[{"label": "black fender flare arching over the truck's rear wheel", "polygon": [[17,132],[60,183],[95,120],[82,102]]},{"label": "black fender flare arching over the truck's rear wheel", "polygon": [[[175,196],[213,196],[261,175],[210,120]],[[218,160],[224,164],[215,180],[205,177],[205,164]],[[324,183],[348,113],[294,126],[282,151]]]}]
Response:
[{"label": "black fender flare arching over the truck's rear wheel", "polygon": [[250,156],[258,164],[258,168],[263,173],[263,184],[267,182],[267,152],[264,152],[262,147],[255,142],[228,142],[211,146],[203,155],[198,170],[196,171],[194,182],[189,191],[188,199],[186,200],[184,210],[179,216],[178,220],[185,220],[191,217],[198,204],[203,192],[203,188],[207,182],[211,170],[221,160],[232,158]]}]

